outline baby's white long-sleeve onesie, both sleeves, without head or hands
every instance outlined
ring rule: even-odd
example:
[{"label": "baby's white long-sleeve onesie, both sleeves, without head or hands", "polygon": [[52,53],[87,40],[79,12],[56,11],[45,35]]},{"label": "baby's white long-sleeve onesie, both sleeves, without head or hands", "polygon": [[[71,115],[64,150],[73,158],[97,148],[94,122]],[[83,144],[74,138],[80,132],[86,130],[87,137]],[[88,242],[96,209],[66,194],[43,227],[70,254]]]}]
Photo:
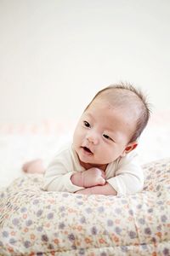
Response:
[{"label": "baby's white long-sleeve onesie, both sleeves, without head or hands", "polygon": [[[49,164],[44,175],[43,189],[67,192],[84,189],[71,183],[71,175],[83,171],[85,169],[80,165],[76,151],[69,144],[60,150]],[[139,166],[135,150],[108,164],[105,177],[107,183],[116,190],[117,195],[129,195],[141,191],[144,186],[144,173]]]}]

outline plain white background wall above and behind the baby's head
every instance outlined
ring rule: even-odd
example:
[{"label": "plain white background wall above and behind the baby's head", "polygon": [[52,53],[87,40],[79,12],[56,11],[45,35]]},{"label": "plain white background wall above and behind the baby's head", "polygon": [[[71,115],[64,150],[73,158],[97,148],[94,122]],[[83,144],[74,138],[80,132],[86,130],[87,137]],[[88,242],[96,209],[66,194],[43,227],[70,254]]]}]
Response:
[{"label": "plain white background wall above and behind the baby's head", "polygon": [[0,121],[77,118],[131,82],[170,109],[169,0],[0,0]]}]

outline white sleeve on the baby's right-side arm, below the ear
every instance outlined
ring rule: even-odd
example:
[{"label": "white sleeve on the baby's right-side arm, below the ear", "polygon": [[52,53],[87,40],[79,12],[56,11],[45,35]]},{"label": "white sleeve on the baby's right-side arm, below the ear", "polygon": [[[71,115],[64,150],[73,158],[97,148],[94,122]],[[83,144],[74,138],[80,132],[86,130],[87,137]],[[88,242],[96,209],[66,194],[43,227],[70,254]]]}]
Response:
[{"label": "white sleeve on the baby's right-side arm, below the ear", "polygon": [[130,195],[141,191],[144,187],[144,172],[139,165],[137,154],[122,157],[115,172],[115,177],[107,180],[117,195]]}]

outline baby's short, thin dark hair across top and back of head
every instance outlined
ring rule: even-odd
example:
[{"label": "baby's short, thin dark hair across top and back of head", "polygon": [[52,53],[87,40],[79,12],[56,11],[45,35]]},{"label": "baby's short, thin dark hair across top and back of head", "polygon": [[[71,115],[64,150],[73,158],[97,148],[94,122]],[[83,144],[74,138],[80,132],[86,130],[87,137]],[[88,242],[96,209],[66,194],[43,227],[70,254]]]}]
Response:
[{"label": "baby's short, thin dark hair across top and back of head", "polygon": [[[138,104],[139,117],[136,120],[135,131],[133,131],[129,143],[136,141],[140,137],[142,131],[144,131],[145,126],[148,124],[151,112],[150,104],[147,102],[146,96],[144,96],[142,90],[135,88],[132,84],[129,83],[111,84],[104,89],[99,90],[92,101],[88,104],[88,107],[92,104],[92,102],[94,102],[96,98],[105,95],[111,99],[113,105],[116,104],[123,106],[126,104],[131,104],[133,106],[134,103]],[[129,101],[130,99],[132,101]],[[88,107],[85,110],[87,110]]]}]

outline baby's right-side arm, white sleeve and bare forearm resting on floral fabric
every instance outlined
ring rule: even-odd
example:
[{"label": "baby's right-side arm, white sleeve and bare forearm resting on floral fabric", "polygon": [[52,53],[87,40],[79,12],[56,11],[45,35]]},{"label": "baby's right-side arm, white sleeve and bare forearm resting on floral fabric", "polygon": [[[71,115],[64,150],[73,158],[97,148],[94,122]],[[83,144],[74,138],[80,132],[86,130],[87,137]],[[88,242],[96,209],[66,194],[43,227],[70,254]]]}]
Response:
[{"label": "baby's right-side arm, white sleeve and bare forearm resting on floral fabric", "polygon": [[106,180],[104,186],[94,186],[77,191],[78,194],[86,195],[132,195],[138,193],[144,186],[144,173],[139,165],[138,156],[135,153],[119,161],[113,175]]}]

